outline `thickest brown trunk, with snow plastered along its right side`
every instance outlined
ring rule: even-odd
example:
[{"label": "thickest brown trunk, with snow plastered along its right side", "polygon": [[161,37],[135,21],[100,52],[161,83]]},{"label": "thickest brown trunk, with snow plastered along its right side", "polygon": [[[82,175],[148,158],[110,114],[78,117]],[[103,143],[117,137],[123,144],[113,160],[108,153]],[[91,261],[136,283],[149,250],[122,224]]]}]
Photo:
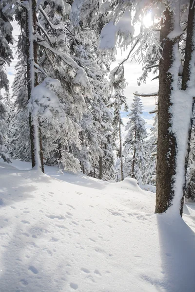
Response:
[{"label": "thickest brown trunk, with snow plastered along its right side", "polygon": [[168,9],[164,12],[165,20],[160,30],[162,58],[159,61],[159,95],[158,95],[158,141],[156,163],[156,213],[165,212],[171,205],[176,174],[176,137],[169,130],[172,121],[169,112],[173,77],[169,72],[173,64],[173,48],[176,39],[167,36],[173,30],[174,13]]}]

